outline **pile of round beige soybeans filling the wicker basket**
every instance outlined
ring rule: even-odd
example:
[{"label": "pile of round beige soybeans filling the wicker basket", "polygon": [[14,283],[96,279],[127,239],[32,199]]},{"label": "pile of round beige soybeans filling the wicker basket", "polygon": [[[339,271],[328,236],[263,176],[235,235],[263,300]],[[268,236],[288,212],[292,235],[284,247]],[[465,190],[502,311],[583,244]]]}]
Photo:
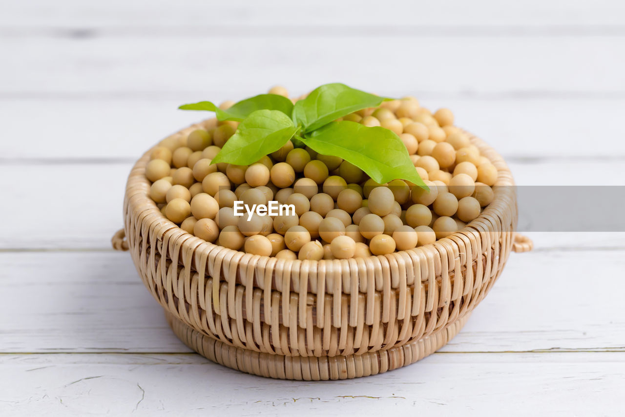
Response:
[{"label": "pile of round beige soybeans filling the wicker basket", "polygon": [[[269,93],[287,96],[282,87]],[[432,114],[405,97],[342,120],[397,133],[429,192],[405,180],[376,183],[341,158],[293,142],[249,166],[211,165],[237,127],[211,119],[153,149],[146,167],[149,195],[165,217],[207,242],[301,260],[384,255],[431,244],[461,230],[492,202],[497,170],[453,125],[448,109]],[[295,214],[236,216],[235,201],[249,207],[277,201],[293,205]]]}]

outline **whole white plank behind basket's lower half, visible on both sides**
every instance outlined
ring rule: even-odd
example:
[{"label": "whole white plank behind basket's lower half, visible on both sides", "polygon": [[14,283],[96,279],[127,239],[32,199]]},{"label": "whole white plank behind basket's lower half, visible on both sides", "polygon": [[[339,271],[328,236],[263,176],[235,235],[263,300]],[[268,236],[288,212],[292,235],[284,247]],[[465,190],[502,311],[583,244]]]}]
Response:
[{"label": "whole white plank behind basket's lower half, visible on both sides", "polygon": [[[625,291],[623,254],[623,247],[512,254],[443,351],[625,351],[625,312],[606,301],[606,288]],[[0,253],[0,293],[0,352],[189,351],[127,253]]]}]

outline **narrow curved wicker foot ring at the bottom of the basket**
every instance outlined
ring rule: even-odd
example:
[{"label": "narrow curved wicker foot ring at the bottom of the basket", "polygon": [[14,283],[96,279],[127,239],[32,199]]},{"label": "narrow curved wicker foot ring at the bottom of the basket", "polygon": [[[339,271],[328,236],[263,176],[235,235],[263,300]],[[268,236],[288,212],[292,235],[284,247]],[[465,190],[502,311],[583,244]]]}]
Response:
[{"label": "narrow curved wicker foot ring at the bottom of the basket", "polygon": [[436,352],[456,336],[470,314],[457,319],[449,327],[422,339],[408,342],[404,346],[360,355],[321,356],[319,358],[282,356],[237,348],[204,336],[169,312],[165,312],[165,316],[174,334],[186,346],[212,362],[267,378],[324,381],[375,375],[415,363]]}]

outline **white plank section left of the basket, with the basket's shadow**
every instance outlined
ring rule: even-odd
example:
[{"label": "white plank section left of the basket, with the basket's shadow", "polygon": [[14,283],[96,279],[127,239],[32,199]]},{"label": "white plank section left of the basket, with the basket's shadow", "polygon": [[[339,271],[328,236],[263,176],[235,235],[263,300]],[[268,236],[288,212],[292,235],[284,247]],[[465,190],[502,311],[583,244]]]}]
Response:
[{"label": "white plank section left of the basket, with the basket's shadow", "polygon": [[[1,253],[1,352],[188,352],[128,253]],[[26,308],[27,306],[27,308]]]}]

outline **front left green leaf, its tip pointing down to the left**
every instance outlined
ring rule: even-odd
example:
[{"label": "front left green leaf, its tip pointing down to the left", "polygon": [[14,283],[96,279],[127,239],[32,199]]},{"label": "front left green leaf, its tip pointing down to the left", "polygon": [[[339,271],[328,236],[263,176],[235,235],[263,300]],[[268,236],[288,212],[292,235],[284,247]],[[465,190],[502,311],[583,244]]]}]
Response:
[{"label": "front left green leaf, its tip pointing down to the left", "polygon": [[249,165],[264,155],[276,152],[297,131],[291,118],[279,110],[256,110],[217,153],[212,163]]}]

